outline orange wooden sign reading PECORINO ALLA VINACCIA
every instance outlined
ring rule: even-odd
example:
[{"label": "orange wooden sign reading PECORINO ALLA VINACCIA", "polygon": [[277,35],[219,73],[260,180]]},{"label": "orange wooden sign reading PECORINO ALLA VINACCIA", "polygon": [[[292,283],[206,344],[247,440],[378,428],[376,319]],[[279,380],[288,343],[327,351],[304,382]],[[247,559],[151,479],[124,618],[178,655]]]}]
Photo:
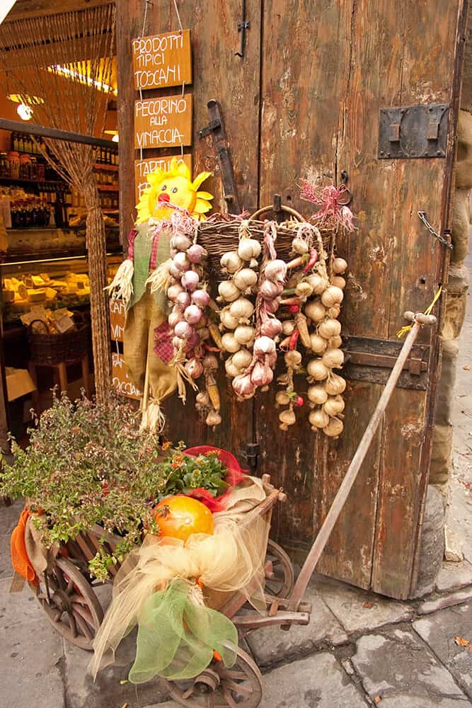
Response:
[{"label": "orange wooden sign reading PECORINO ALLA VINACCIA", "polygon": [[192,144],[192,95],[134,101],[134,147]]}]

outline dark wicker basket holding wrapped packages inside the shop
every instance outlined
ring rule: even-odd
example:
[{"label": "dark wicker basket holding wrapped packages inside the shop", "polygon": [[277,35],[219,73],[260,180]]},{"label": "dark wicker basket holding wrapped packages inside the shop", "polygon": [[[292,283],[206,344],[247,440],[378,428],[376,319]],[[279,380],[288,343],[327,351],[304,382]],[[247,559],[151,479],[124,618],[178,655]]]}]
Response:
[{"label": "dark wicker basket holding wrapped packages inside the shop", "polygon": [[33,320],[28,326],[30,360],[33,364],[62,364],[84,359],[88,351],[88,324],[80,312],[74,313],[76,329],[63,334],[50,334],[33,329],[33,324],[45,323]]}]

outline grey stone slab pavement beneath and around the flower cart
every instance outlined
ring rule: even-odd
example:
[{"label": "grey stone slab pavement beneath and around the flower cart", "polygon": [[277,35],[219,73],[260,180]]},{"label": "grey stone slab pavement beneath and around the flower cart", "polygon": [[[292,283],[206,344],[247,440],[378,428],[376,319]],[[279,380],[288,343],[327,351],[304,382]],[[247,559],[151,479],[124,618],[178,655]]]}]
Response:
[{"label": "grey stone slab pavement beneath and around the flower cart", "polygon": [[[25,588],[9,593],[8,538],[21,505],[0,508],[0,706],[176,708],[159,681],[125,680],[131,635],[117,663],[87,675],[90,655],[66,644]],[[109,593],[108,593],[109,596]],[[102,596],[103,604],[108,597]],[[472,566],[444,564],[432,595],[396,602],[315,576],[307,627],[248,637],[263,672],[263,708],[464,708],[472,705]]]}]

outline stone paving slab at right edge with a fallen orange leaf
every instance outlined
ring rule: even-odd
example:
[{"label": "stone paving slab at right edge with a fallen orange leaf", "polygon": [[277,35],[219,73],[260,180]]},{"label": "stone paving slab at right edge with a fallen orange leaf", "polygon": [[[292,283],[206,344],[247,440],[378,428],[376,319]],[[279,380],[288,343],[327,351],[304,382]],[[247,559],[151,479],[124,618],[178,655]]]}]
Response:
[{"label": "stone paving slab at right edge with a fallen orange leaf", "polygon": [[472,698],[472,652],[454,641],[461,636],[472,643],[472,602],[417,619],[413,627]]}]

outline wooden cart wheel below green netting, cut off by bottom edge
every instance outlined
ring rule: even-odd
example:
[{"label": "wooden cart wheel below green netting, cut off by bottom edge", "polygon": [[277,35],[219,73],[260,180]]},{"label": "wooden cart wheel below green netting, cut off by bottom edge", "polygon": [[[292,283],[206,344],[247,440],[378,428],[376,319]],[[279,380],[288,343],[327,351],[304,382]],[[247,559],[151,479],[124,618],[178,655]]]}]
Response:
[{"label": "wooden cart wheel below green netting, cut off by bottom edge", "polygon": [[166,681],[173,700],[186,708],[257,708],[263,696],[260,670],[246,651],[237,653],[231,668],[212,661],[196,678]]}]

